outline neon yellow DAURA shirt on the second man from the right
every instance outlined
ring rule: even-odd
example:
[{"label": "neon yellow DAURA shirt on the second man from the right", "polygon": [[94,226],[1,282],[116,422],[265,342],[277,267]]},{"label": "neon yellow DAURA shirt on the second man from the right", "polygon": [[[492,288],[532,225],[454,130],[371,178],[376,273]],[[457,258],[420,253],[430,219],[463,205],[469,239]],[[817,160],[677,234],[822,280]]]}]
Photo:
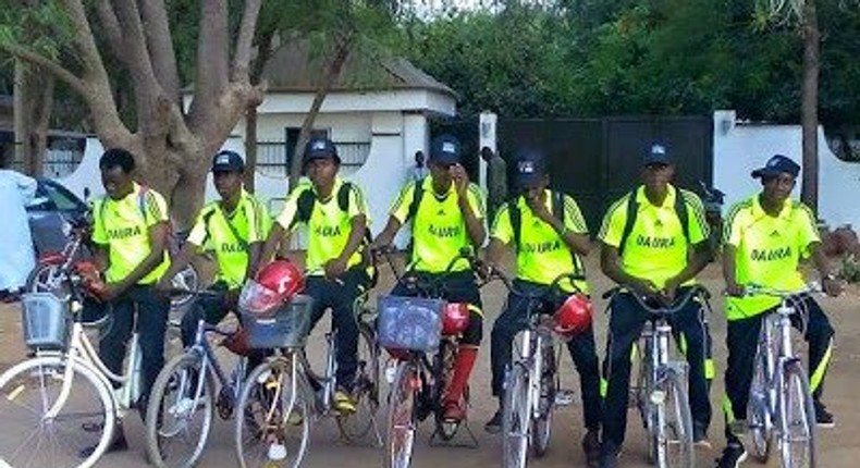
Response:
[{"label": "neon yellow DAURA shirt on the second man from the right", "polygon": [[[683,192],[689,223],[689,244],[675,212],[677,189],[669,185],[668,195],[661,206],[651,204],[644,194],[644,186],[636,190],[639,211],[621,258],[622,269],[626,273],[649,279],[662,288],[666,280],[680,273],[687,266],[690,244],[696,245],[708,238],[710,230],[704,220],[702,200],[692,192]],[[621,246],[629,198],[630,194],[615,201],[603,217],[598,234],[602,243],[615,248]],[[687,284],[692,282],[691,280]]]}]

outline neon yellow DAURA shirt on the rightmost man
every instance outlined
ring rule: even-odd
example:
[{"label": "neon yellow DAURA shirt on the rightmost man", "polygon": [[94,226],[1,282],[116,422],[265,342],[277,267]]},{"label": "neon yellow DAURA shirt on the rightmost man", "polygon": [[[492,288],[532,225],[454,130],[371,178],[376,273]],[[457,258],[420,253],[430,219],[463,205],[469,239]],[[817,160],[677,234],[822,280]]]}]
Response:
[{"label": "neon yellow DAURA shirt on the rightmost man", "polygon": [[[738,284],[796,291],[806,286],[798,270],[800,259],[808,257],[810,245],[821,238],[815,217],[806,205],[787,199],[779,215],[772,217],[764,212],[755,195],[728,211],[723,241],[737,249]],[[778,304],[775,297],[727,297],[726,318],[753,317]]]}]

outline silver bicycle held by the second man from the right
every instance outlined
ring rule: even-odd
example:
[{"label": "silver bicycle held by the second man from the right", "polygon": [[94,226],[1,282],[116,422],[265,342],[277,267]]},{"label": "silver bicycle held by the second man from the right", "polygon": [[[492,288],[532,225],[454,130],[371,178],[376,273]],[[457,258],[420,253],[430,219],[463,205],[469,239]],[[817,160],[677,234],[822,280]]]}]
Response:
[{"label": "silver bicycle held by the second man from the right", "polygon": [[672,305],[654,304],[621,287],[610,290],[603,297],[622,292],[634,297],[649,315],[640,334],[639,372],[636,386],[631,389],[646,430],[648,461],[661,468],[692,468],[696,454],[687,395],[687,362],[671,359],[669,318],[695,298],[707,301],[710,294],[703,286],[693,285]]}]

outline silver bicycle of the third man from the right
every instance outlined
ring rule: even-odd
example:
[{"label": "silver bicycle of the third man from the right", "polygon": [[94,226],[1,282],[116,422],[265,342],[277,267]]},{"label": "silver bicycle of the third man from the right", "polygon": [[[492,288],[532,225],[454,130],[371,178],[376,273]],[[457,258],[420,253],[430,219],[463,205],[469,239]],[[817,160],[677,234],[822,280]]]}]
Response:
[{"label": "silver bicycle of the third man from the right", "polygon": [[507,290],[528,301],[528,327],[519,334],[518,356],[505,377],[502,404],[502,466],[524,468],[529,447],[535,457],[542,457],[550,444],[553,409],[569,405],[573,395],[561,389],[558,361],[561,345],[554,338],[551,316],[552,298],[562,293],[560,284],[585,281],[575,273],[562,273],[541,293],[518,291],[501,271],[491,271]]}]

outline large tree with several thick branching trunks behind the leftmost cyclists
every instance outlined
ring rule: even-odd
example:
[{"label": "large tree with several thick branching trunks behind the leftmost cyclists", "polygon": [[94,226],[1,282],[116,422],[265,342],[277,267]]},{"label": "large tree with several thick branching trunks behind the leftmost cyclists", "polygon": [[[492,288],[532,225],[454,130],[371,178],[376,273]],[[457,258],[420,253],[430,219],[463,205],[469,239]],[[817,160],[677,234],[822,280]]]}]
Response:
[{"label": "large tree with several thick branching trunks behind the leftmost cyclists", "polygon": [[[211,155],[246,109],[262,100],[262,89],[249,79],[261,0],[244,0],[236,21],[229,3],[238,2],[199,0],[187,106],[165,0],[46,0],[35,8],[11,2],[0,12],[0,50],[78,94],[102,145],[131,150],[140,180],[170,199],[175,221],[187,227],[202,202]],[[53,37],[26,40],[29,22],[51,28]],[[116,83],[128,88],[116,89]],[[118,96],[126,93],[131,115],[118,107]]]}]

